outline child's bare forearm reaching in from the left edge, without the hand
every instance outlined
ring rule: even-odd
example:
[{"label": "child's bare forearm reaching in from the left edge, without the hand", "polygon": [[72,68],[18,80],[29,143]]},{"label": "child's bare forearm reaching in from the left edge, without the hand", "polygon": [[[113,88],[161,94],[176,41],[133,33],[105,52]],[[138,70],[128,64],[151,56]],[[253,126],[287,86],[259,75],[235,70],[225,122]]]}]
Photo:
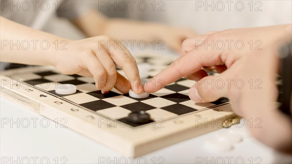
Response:
[{"label": "child's bare forearm reaching in from the left edge, without the hand", "polygon": [[[54,65],[62,37],[37,31],[0,17],[0,61],[28,65]],[[67,42],[63,41],[62,45]],[[66,47],[65,47],[66,48]]]}]

